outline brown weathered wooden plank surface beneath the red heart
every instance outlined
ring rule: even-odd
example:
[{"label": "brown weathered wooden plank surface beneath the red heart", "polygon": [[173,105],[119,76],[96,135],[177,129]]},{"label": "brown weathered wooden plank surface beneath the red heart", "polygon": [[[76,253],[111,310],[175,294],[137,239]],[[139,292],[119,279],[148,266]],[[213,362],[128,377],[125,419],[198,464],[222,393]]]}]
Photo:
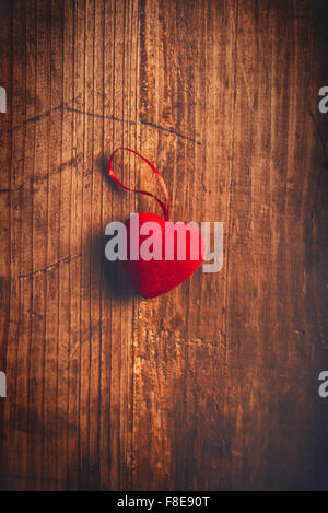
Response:
[{"label": "brown weathered wooden plank surface beneath the red heart", "polygon": [[[328,488],[327,27],[318,0],[0,0],[1,488]],[[221,272],[145,301],[106,263],[109,221],[159,212],[106,178],[121,144],[173,220],[223,221]]]}]

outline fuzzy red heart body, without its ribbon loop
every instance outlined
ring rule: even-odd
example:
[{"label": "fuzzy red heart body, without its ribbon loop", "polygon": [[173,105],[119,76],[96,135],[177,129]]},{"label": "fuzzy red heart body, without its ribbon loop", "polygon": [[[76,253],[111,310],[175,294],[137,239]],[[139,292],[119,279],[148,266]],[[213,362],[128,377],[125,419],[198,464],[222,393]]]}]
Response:
[{"label": "fuzzy red heart body, without its ribbon loop", "polygon": [[[155,222],[161,228],[161,236],[162,236],[162,259],[161,260],[144,260],[140,257],[139,259],[132,260],[130,258],[130,237],[132,240],[139,236],[139,249],[142,245],[142,242],[149,237],[149,235],[140,235],[139,233],[134,233],[136,229],[132,225],[132,233],[131,233],[131,223],[130,219],[126,221],[127,228],[127,247],[128,247],[128,259],[122,260],[121,264],[126,273],[128,275],[133,288],[136,291],[142,295],[143,298],[155,298],[157,295],[164,294],[169,290],[174,289],[175,287],[179,285],[183,281],[187,280],[195,271],[198,269],[200,264],[202,263],[202,244],[203,240],[201,236],[200,231],[196,226],[189,226],[190,229],[190,236],[198,237],[199,242],[199,257],[198,259],[194,260],[190,258],[190,237],[186,237],[186,258],[185,259],[177,259],[177,236],[174,237],[174,259],[166,260],[165,259],[165,224],[166,222],[161,219],[159,215],[150,212],[140,212],[139,213],[139,230],[145,222]],[[157,240],[154,235],[154,237]],[[134,238],[138,240],[138,238]]]}]

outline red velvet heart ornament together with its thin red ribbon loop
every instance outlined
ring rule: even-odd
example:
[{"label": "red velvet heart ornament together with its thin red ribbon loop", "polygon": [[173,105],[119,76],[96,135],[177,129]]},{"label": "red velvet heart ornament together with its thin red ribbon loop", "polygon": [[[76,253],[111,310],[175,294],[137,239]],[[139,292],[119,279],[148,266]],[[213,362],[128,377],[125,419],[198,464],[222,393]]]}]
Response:
[{"label": "red velvet heart ornament together with its thin red ribbon loop", "polygon": [[[113,171],[117,151],[126,150],[141,158],[155,174],[165,195],[165,202],[151,193],[130,189],[121,184]],[[162,295],[187,280],[202,263],[204,241],[192,223],[173,223],[168,219],[169,197],[163,177],[154,165],[129,148],[115,150],[108,162],[108,174],[125,190],[154,198],[164,219],[152,212],[139,212],[126,221],[127,253],[121,265],[133,289],[143,298]]]}]

